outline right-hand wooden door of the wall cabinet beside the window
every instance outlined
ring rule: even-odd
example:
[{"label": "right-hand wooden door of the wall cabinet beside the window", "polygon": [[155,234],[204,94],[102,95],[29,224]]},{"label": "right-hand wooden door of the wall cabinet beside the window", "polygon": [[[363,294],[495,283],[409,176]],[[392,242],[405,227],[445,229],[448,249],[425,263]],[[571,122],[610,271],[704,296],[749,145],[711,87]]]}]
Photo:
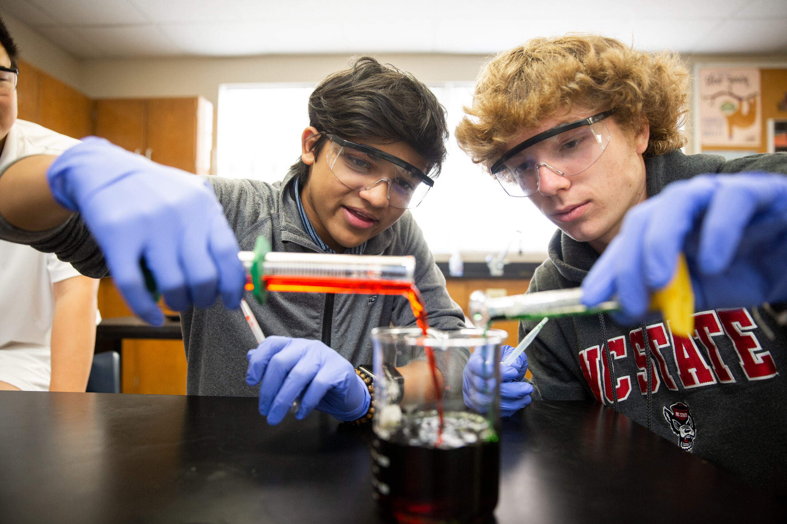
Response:
[{"label": "right-hand wooden door of the wall cabinet beside the window", "polygon": [[147,122],[150,159],[196,173],[197,115],[197,97],[150,99]]}]

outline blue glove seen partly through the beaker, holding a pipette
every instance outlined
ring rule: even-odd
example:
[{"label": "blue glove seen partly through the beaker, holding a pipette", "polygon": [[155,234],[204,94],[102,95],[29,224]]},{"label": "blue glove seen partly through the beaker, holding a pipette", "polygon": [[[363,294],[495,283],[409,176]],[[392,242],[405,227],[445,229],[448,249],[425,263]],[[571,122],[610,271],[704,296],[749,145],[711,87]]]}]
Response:
[{"label": "blue glove seen partly through the beaker, holding a pipette", "polygon": [[[512,346],[501,346],[501,361],[514,350]],[[489,352],[492,353],[491,351]],[[485,385],[483,376],[486,374],[486,391],[491,391],[494,387],[492,376],[495,364],[492,361],[494,355],[488,355],[484,361],[483,350],[480,348],[471,354],[470,359],[464,366],[462,373],[462,395],[464,403],[476,412],[485,412],[486,406],[490,404],[490,395],[484,394]],[[530,394],[533,393],[533,386],[527,382],[522,382],[525,372],[527,372],[527,355],[523,352],[513,365],[500,365],[500,412],[501,416],[512,416],[519,409],[523,409],[530,404]],[[486,373],[484,373],[486,369]]]}]

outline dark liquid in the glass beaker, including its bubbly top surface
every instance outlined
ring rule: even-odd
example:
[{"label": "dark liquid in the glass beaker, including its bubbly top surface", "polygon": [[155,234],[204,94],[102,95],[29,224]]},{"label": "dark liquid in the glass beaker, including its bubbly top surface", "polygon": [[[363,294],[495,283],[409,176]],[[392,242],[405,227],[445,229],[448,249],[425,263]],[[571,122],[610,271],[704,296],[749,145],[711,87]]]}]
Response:
[{"label": "dark liquid in the glass beaker, including its bubbly top surface", "polygon": [[446,412],[438,441],[438,424],[431,411],[405,415],[395,429],[375,429],[375,499],[406,524],[481,522],[497,504],[497,431],[479,414]]}]

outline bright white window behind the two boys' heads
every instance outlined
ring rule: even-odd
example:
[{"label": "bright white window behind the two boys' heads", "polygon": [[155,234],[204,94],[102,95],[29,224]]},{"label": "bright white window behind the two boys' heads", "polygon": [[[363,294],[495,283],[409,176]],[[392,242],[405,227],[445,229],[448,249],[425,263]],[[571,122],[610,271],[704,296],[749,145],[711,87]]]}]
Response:
[{"label": "bright white window behind the two boys' heads", "polygon": [[[527,198],[505,194],[488,173],[456,145],[453,129],[471,101],[471,82],[430,86],[448,112],[449,154],[442,174],[421,205],[412,210],[434,253],[455,250],[543,253],[552,225]],[[219,176],[281,180],[301,154],[301,132],[309,125],[304,84],[226,84],[219,91]]]}]

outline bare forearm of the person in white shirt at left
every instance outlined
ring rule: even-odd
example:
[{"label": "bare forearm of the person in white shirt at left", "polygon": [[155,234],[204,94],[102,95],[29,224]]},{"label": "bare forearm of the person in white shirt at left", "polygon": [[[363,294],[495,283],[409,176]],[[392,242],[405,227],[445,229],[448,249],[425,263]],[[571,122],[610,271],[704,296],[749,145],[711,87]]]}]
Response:
[{"label": "bare forearm of the person in white shirt at left", "polygon": [[84,391],[93,363],[98,280],[55,282],[50,391]]}]

